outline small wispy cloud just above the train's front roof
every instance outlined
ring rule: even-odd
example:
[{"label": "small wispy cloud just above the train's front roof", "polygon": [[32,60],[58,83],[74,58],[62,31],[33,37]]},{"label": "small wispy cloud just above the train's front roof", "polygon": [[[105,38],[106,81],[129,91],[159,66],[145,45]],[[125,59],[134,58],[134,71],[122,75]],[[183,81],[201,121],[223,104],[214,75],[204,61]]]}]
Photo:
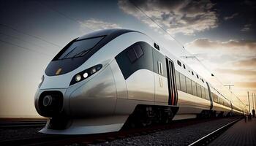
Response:
[{"label": "small wispy cloud just above the train's front roof", "polygon": [[109,23],[97,19],[89,19],[80,22],[81,28],[91,28],[92,30],[106,29],[106,28],[121,28],[116,23]]}]

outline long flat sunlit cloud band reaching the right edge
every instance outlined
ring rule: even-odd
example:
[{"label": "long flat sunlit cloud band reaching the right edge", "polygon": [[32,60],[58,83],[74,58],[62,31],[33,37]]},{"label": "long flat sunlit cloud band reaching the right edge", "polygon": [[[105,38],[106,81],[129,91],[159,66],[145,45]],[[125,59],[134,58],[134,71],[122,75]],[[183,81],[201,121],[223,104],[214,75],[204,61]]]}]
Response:
[{"label": "long flat sunlit cloud band reaching the right edge", "polygon": [[249,40],[229,40],[227,42],[211,41],[210,39],[195,39],[185,45],[187,48],[197,47],[203,50],[207,49],[238,49],[238,50],[256,50],[256,42]]}]

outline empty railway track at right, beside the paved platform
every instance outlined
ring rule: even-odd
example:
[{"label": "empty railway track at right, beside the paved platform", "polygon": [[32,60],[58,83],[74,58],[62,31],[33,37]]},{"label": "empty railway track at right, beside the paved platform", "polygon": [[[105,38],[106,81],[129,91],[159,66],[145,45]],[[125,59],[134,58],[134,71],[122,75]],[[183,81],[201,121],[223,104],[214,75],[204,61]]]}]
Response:
[{"label": "empty railway track at right, beside the paved platform", "polygon": [[236,120],[233,120],[230,123],[227,123],[225,126],[222,126],[218,128],[217,130],[211,132],[210,134],[207,134],[206,136],[197,139],[195,142],[192,142],[189,146],[197,146],[197,145],[208,145],[210,142],[214,141],[219,135],[221,135],[223,132],[225,132],[228,128],[233,126],[236,122],[241,120],[241,118],[238,118]]}]

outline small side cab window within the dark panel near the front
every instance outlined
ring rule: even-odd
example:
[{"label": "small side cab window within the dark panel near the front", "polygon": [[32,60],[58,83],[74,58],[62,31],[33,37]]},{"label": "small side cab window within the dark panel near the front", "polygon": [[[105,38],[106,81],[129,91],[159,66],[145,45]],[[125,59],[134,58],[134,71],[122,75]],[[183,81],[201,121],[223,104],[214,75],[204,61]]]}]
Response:
[{"label": "small side cab window within the dark panel near the front", "polygon": [[127,50],[127,56],[129,58],[129,61],[131,61],[132,63],[135,62],[142,55],[143,50],[138,44],[132,45],[132,47],[129,47],[129,50]]}]

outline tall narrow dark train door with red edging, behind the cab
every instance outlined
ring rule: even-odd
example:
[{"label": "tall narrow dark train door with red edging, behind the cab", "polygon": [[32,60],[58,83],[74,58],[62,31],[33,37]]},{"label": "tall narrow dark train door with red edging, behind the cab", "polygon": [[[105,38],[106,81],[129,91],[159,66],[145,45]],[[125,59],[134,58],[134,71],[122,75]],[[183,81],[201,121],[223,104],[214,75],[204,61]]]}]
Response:
[{"label": "tall narrow dark train door with red edging, behind the cab", "polygon": [[166,58],[166,68],[167,68],[167,80],[168,80],[168,91],[169,91],[169,105],[177,105],[178,93],[176,88],[176,78],[175,69],[173,61]]}]

